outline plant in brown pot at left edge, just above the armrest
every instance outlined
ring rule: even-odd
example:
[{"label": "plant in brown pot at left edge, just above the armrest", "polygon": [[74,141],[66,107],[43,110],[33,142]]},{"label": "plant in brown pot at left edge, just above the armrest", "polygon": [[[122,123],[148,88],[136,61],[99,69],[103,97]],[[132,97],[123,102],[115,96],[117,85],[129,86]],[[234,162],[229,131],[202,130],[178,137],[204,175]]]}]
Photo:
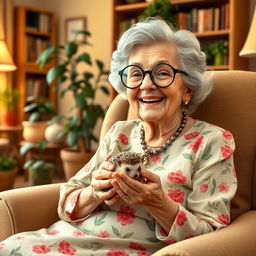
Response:
[{"label": "plant in brown pot at left edge, just above the armrest", "polygon": [[18,161],[13,155],[0,155],[0,191],[13,188]]}]

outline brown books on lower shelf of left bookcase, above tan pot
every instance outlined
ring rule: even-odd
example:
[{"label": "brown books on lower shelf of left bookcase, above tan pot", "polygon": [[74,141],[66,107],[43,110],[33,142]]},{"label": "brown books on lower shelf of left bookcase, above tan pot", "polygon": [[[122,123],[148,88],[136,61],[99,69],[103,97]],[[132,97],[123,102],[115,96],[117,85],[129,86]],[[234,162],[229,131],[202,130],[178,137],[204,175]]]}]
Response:
[{"label": "brown books on lower shelf of left bookcase, above tan pot", "polygon": [[44,77],[27,77],[26,79],[26,98],[33,96],[35,98],[45,97],[49,94],[49,88]]}]

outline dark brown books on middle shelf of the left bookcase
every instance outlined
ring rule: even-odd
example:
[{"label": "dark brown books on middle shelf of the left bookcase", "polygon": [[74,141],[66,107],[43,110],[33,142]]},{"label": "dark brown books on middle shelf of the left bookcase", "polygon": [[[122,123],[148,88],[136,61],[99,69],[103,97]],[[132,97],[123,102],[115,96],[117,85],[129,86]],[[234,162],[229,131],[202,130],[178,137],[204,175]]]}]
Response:
[{"label": "dark brown books on middle shelf of the left bookcase", "polygon": [[25,51],[28,62],[35,62],[42,51],[51,46],[50,40],[26,36]]}]

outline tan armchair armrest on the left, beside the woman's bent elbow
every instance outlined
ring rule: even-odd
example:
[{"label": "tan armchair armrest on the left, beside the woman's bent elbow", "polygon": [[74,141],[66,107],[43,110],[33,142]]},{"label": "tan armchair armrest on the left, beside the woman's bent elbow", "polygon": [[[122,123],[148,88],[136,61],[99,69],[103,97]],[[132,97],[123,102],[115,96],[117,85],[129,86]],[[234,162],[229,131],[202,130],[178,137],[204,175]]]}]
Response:
[{"label": "tan armchair armrest on the left, beside the woman's bent elbow", "polygon": [[56,222],[59,189],[60,184],[50,184],[1,192],[0,241]]}]

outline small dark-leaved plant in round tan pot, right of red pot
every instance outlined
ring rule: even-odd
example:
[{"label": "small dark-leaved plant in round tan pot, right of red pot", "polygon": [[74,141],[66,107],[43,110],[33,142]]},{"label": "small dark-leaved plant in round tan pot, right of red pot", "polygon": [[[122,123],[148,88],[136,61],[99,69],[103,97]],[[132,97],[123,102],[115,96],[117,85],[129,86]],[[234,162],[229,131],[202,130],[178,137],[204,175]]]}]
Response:
[{"label": "small dark-leaved plant in round tan pot, right of red pot", "polygon": [[28,121],[23,121],[23,137],[29,142],[44,140],[45,129],[54,112],[52,102],[48,102],[44,97],[37,98],[31,96],[27,98],[31,103],[24,107],[24,112],[29,114]]}]

